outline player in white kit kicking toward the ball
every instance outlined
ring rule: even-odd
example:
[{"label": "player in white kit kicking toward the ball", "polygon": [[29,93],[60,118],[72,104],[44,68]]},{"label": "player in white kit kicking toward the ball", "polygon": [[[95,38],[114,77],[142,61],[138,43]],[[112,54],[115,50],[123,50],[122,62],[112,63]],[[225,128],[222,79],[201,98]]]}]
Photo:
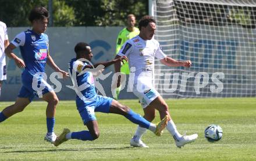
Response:
[{"label": "player in white kit kicking toward the ball", "polygon": [[[159,42],[154,39],[156,30],[155,20],[151,16],[144,16],[141,18],[138,28],[140,34],[131,40],[127,40],[120,49],[116,58],[120,56],[127,56],[131,73],[134,74],[133,93],[140,99],[141,106],[144,110],[144,118],[152,121],[155,118],[155,109],[159,111],[161,119],[166,115],[169,116],[169,121],[166,126],[169,133],[175,139],[176,146],[182,146],[195,141],[198,135],[181,135],[173,123],[169,114],[167,103],[159,95],[154,88],[154,60],[159,59],[163,65],[166,66],[183,66],[190,67],[190,60],[178,61],[172,59],[162,52]],[[115,64],[116,72],[120,72],[120,63]],[[117,87],[120,85],[120,77]],[[138,126],[136,133],[130,140],[131,146],[148,148],[147,145],[141,141],[141,137],[147,131],[146,128]]]}]

